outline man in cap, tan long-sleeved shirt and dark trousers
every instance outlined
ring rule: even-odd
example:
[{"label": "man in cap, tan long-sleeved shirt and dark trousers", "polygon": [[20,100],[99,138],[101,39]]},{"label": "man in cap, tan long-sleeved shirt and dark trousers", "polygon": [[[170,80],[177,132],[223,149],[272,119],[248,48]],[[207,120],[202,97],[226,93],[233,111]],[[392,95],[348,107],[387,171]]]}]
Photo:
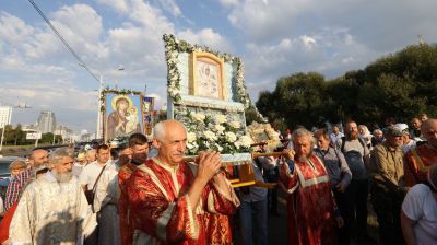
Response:
[{"label": "man in cap, tan long-sleeved shirt and dark trousers", "polygon": [[369,172],[371,203],[378,217],[382,244],[403,244],[400,211],[403,199],[402,131],[397,126],[386,128],[386,141],[370,153]]}]

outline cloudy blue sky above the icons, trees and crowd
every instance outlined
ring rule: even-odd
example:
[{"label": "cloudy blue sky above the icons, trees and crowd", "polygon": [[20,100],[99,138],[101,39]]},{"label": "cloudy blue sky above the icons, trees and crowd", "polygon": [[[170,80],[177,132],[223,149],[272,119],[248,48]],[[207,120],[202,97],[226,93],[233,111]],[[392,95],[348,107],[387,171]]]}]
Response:
[{"label": "cloudy blue sky above the icons, trees and crowd", "polygon": [[[240,57],[252,102],[277,79],[317,71],[327,79],[408,45],[437,43],[435,0],[34,0],[105,86],[144,91],[166,103],[163,34]],[[123,68],[119,70],[118,68]],[[95,131],[98,82],[33,5],[0,0],[0,104],[12,122]]]}]

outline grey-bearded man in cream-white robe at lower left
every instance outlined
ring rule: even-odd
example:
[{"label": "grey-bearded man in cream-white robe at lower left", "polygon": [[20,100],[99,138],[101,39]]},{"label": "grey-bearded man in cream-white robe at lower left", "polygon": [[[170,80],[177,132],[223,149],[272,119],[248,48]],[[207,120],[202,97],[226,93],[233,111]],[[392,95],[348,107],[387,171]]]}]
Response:
[{"label": "grey-bearded man in cream-white robe at lower left", "polygon": [[10,228],[10,244],[79,244],[88,214],[85,195],[71,173],[72,153],[59,148],[51,171],[24,190]]}]

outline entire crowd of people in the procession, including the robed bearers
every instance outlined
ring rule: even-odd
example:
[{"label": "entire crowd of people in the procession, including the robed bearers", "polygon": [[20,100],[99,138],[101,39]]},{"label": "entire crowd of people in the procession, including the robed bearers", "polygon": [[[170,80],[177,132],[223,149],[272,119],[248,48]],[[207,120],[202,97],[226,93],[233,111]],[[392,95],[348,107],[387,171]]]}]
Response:
[{"label": "entire crowd of people in the procession, including the robed bearers", "polygon": [[[388,122],[373,133],[352,120],[288,129],[281,156],[256,158],[257,185],[240,188],[218,152],[184,161],[187,130],[177,120],[117,149],[35,149],[10,165],[0,242],[265,245],[281,190],[283,244],[437,244],[437,119]],[[367,231],[369,200],[377,238]]]}]

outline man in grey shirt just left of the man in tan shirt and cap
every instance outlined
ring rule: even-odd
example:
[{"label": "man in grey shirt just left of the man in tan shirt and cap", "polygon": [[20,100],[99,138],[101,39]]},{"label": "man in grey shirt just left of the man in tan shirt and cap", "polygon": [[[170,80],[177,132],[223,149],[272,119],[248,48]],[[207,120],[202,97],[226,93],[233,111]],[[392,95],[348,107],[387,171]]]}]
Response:
[{"label": "man in grey shirt just left of the man in tan shirt and cap", "polygon": [[368,174],[365,160],[369,156],[369,150],[359,139],[355,121],[346,122],[345,133],[345,137],[336,141],[335,147],[344,154],[352,172],[352,180],[345,192],[347,217],[351,219],[351,226],[355,226],[357,242],[375,242],[367,234]]}]

